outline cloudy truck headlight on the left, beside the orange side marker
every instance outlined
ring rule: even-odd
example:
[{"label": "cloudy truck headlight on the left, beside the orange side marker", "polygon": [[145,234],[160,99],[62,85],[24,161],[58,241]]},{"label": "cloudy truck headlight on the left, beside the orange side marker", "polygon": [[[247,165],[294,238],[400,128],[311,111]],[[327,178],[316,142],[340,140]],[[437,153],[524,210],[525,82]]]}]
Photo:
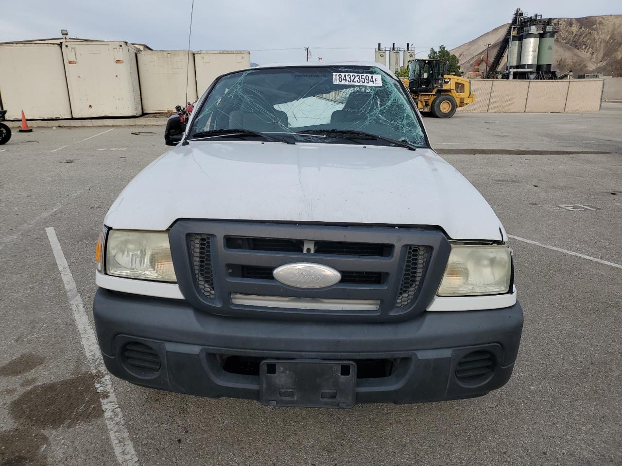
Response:
[{"label": "cloudy truck headlight on the left, beside the orange side marker", "polygon": [[169,234],[110,230],[106,240],[106,273],[142,280],[177,281]]}]

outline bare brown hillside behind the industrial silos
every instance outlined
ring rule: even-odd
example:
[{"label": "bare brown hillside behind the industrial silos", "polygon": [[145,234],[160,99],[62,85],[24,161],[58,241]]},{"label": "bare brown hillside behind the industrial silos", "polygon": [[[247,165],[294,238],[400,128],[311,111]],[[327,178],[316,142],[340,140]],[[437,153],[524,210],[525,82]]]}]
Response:
[{"label": "bare brown hillside behind the industrial silos", "polygon": [[[622,76],[622,15],[556,18],[553,25],[558,31],[555,35],[553,69],[558,73],[572,70],[576,76],[600,71],[605,75]],[[493,60],[507,29],[508,24],[496,27],[450,52],[458,57],[463,71],[473,71],[476,60],[486,55],[486,43],[491,44],[488,57]],[[503,57],[499,70],[504,69],[505,63],[506,57]]]}]

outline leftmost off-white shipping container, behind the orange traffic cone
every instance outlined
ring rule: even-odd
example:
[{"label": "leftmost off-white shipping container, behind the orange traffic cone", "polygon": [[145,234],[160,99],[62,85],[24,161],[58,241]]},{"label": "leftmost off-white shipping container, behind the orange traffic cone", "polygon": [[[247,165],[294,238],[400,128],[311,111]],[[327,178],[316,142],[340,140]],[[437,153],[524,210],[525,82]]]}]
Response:
[{"label": "leftmost off-white shipping container, behind the orange traffic cone", "polygon": [[0,45],[0,97],[6,118],[71,118],[63,55],[58,44]]}]

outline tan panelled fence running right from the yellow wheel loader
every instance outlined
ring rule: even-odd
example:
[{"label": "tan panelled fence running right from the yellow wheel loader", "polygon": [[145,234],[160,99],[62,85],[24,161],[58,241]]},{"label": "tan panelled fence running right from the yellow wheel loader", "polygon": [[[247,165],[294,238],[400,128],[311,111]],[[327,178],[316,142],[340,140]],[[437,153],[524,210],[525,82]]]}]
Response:
[{"label": "tan panelled fence running right from the yellow wheel loader", "polygon": [[475,102],[459,112],[597,112],[603,93],[603,80],[473,79],[471,86]]}]

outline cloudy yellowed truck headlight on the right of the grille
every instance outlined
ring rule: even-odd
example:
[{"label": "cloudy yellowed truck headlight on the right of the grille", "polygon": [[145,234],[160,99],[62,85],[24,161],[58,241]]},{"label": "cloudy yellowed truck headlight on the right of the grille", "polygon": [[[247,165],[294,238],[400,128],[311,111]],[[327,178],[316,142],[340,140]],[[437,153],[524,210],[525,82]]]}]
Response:
[{"label": "cloudy yellowed truck headlight on the right of the grille", "polygon": [[439,296],[508,293],[512,275],[510,250],[504,245],[452,245]]}]

